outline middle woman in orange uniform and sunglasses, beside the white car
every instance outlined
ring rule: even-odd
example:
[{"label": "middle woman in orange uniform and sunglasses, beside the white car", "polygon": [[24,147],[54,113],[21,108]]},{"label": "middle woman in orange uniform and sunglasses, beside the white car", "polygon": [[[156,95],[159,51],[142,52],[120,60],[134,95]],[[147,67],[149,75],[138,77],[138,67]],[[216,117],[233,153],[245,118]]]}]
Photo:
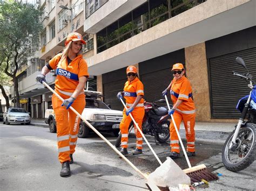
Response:
[{"label": "middle woman in orange uniform and sunglasses, beside the white car", "polygon": [[[143,83],[138,79],[137,68],[134,66],[128,66],[126,69],[127,82],[124,85],[124,91],[117,94],[118,99],[122,99],[123,96],[126,101],[127,110],[123,110],[123,119],[120,123],[121,138],[121,153],[127,155],[128,147],[128,131],[129,125],[132,121],[129,114],[131,113],[134,120],[138,123],[140,130],[142,130],[142,121],[145,114],[144,110],[144,87]],[[133,151],[133,155],[142,154],[143,138],[136,125],[134,125],[136,133],[136,149]]]}]

